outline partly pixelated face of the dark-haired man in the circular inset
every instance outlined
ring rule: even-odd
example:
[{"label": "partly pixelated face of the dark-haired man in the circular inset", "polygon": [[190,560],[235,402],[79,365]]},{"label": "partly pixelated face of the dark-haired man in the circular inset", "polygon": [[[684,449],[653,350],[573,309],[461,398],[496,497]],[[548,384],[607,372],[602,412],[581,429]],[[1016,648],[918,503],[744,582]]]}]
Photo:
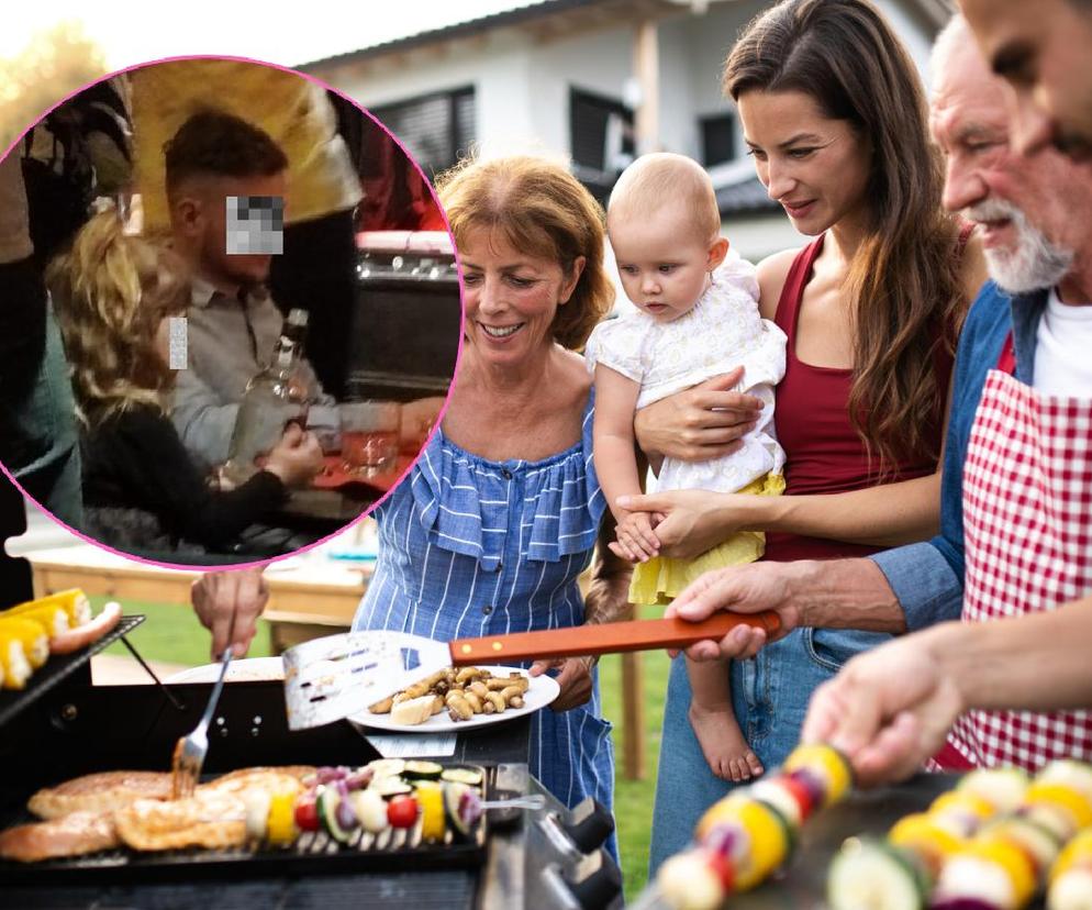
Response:
[{"label": "partly pixelated face of the dark-haired man in the circular inset", "polygon": [[201,207],[201,267],[208,277],[242,285],[269,277],[275,242],[281,252],[287,185],[283,174],[210,181]]}]

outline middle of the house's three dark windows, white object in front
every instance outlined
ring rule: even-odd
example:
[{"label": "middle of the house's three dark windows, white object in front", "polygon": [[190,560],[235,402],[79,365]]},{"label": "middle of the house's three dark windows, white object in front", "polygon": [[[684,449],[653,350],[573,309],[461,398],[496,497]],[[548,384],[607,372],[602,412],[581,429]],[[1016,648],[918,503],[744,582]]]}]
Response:
[{"label": "middle of the house's three dark windows, white object in front", "polygon": [[633,111],[612,98],[570,89],[569,137],[576,176],[602,201],[633,160]]}]

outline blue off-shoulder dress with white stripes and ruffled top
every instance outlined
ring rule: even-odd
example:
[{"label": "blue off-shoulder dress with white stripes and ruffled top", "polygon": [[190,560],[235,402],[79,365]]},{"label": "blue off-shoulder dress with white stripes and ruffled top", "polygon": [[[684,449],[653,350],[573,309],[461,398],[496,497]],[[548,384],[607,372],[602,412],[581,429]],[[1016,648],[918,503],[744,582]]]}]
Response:
[{"label": "blue off-shoulder dress with white stripes and ruffled top", "polygon": [[[605,507],[592,466],[592,406],[589,396],[581,441],[538,462],[490,462],[437,430],[374,512],[379,559],[354,630],[450,641],[582,623],[577,576]],[[589,703],[534,715],[532,773],[566,806],[594,796],[610,808],[610,731],[597,679]]]}]

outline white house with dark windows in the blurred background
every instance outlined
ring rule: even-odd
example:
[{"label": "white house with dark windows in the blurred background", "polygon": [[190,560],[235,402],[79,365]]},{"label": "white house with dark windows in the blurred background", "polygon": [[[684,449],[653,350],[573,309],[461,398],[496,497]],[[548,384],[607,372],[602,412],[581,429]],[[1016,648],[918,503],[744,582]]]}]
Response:
[{"label": "white house with dark windows in the blurred background", "polygon": [[[950,0],[877,0],[923,75]],[[746,157],[724,58],[760,0],[543,0],[301,66],[368,108],[426,173],[472,143],[570,156],[601,199],[659,147],[712,174],[725,234],[757,260],[801,243]]]}]

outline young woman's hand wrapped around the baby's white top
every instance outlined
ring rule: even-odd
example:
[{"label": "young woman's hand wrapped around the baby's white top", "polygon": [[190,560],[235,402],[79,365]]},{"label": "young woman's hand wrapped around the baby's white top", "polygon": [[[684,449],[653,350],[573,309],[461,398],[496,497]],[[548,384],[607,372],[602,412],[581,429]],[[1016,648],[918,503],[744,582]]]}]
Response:
[{"label": "young woman's hand wrapped around the baby's white top", "polygon": [[731,455],[758,424],[762,409],[755,396],[731,391],[742,378],[743,367],[737,367],[642,408],[633,421],[640,448],[682,462]]}]

